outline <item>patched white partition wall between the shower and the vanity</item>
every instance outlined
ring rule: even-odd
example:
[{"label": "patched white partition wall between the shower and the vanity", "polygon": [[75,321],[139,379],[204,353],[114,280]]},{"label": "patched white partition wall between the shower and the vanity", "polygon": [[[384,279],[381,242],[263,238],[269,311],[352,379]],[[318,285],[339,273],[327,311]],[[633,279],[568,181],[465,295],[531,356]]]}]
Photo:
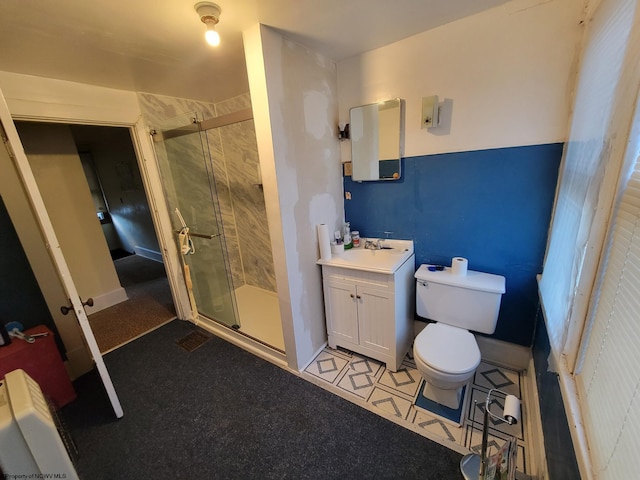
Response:
[{"label": "patched white partition wall between the shower and the vanity", "polygon": [[326,342],[316,225],[343,220],[336,69],[263,25],[243,37],[287,361],[300,369]]}]

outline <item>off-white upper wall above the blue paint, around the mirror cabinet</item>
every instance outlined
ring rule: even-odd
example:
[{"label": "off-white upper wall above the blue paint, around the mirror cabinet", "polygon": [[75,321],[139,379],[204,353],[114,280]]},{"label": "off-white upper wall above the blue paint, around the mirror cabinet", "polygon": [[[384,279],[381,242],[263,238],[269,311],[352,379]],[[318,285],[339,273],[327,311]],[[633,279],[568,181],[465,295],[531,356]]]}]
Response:
[{"label": "off-white upper wall above the blue paint, around the mirror cabinet", "polygon": [[[338,63],[349,108],[406,101],[405,156],[563,142],[582,0],[514,0]],[[447,125],[421,129],[422,97],[453,101]],[[343,161],[351,158],[343,142]]]}]

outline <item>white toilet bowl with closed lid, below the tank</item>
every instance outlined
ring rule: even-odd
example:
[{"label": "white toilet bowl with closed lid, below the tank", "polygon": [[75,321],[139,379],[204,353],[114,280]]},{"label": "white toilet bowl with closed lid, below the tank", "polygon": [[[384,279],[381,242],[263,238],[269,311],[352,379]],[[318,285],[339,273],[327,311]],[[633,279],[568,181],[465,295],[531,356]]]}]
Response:
[{"label": "white toilet bowl with closed lid, below the tank", "polygon": [[471,332],[443,323],[431,323],[413,344],[416,368],[426,384],[423,395],[454,410],[460,406],[462,387],[480,365],[480,349]]}]

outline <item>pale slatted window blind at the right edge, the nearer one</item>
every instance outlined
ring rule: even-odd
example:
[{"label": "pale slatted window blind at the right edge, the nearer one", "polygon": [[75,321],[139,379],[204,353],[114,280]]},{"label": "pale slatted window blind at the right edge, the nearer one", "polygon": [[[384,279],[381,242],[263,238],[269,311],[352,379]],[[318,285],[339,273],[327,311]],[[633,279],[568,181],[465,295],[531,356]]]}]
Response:
[{"label": "pale slatted window blind at the right edge, the nearer one", "polygon": [[637,478],[640,459],[640,157],[614,224],[576,377],[598,479]]}]

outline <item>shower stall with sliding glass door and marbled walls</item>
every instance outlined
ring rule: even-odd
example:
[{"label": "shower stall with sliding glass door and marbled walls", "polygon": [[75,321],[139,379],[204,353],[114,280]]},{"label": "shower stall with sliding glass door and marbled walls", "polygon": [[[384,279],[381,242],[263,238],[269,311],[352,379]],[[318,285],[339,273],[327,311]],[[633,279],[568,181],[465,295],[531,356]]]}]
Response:
[{"label": "shower stall with sliding glass door and marbled walls", "polygon": [[194,318],[284,352],[251,111],[188,113],[153,132]]}]

